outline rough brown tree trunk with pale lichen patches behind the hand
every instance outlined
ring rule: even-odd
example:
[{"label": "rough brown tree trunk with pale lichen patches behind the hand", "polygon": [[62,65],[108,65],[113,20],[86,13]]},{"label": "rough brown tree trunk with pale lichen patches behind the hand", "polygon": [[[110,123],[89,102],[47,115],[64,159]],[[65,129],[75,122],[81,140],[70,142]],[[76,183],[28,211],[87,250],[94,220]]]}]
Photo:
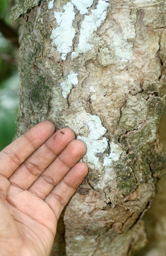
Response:
[{"label": "rough brown tree trunk with pale lichen patches behind the hand", "polygon": [[51,255],[133,255],[165,165],[166,3],[19,0],[18,135],[39,121],[84,140],[89,175],[61,215]]}]

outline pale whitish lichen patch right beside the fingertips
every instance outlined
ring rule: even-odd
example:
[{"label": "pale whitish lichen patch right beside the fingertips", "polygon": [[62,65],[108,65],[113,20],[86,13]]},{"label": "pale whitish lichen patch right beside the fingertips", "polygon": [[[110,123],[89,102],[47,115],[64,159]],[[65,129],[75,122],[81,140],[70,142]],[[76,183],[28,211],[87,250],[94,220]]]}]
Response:
[{"label": "pale whitish lichen patch right beside the fingertips", "polygon": [[77,139],[83,140],[87,146],[84,158],[96,168],[104,167],[106,170],[105,176],[108,177],[109,173],[112,172],[112,161],[118,161],[123,151],[118,144],[111,142],[110,153],[103,156],[103,164],[99,161],[96,153],[103,153],[108,147],[107,139],[103,137],[106,133],[106,128],[102,126],[100,117],[82,110],[79,114],[72,115],[72,119],[67,117],[66,125],[74,130],[76,134],[83,134],[82,136],[77,136]]}]

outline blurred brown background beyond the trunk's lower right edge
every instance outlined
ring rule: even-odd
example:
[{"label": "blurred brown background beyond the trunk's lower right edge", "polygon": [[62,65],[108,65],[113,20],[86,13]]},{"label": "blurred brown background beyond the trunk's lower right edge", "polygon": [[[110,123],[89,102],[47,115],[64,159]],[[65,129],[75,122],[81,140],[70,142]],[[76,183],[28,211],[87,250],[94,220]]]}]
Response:
[{"label": "blurred brown background beyond the trunk's lower right edge", "polygon": [[[166,110],[166,107],[165,107]],[[159,124],[159,133],[163,142],[163,150],[166,152],[166,111]],[[148,244],[137,256],[165,256],[166,252],[166,168],[164,175],[157,183],[158,193],[154,197],[151,208],[143,217]]]}]

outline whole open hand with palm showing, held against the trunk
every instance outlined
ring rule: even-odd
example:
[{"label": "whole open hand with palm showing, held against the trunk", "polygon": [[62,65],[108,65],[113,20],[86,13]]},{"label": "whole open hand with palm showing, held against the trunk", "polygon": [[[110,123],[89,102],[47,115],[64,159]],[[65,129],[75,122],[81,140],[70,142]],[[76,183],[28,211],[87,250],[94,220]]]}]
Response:
[{"label": "whole open hand with palm showing, held against the trunk", "polygon": [[74,131],[48,121],[0,152],[1,256],[50,254],[60,213],[87,175],[85,152]]}]

